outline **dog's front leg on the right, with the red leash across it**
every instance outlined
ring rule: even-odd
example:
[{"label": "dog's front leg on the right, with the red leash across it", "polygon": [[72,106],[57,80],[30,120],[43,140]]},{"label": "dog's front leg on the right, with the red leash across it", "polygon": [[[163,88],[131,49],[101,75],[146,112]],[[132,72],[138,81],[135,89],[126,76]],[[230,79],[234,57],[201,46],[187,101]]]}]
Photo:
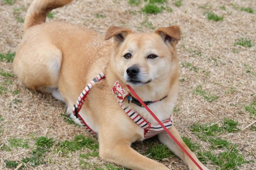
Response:
[{"label": "dog's front leg on the right, with the red leash across it", "polygon": [[[196,157],[196,155],[188,148],[188,146],[182,141],[178,131],[174,126],[172,126],[169,131],[172,135],[177,139],[178,142],[188,151],[188,153],[195,159],[195,161],[204,169],[208,170]],[[167,146],[175,155],[180,157],[189,167],[189,170],[197,170],[199,169],[194,162],[188,157],[187,154],[173,141],[173,139],[166,133],[158,134],[159,141]]]}]

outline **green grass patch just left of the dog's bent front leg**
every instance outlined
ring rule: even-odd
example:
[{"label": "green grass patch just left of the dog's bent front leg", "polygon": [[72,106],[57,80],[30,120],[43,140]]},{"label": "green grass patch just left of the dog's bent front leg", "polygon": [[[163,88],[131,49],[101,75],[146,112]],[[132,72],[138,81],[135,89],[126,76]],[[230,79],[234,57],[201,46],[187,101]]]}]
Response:
[{"label": "green grass patch just left of the dog's bent front leg", "polygon": [[87,147],[90,150],[97,150],[98,143],[91,137],[85,138],[84,135],[76,135],[72,141],[65,140],[58,143],[57,153],[66,155],[72,151],[80,150]]}]

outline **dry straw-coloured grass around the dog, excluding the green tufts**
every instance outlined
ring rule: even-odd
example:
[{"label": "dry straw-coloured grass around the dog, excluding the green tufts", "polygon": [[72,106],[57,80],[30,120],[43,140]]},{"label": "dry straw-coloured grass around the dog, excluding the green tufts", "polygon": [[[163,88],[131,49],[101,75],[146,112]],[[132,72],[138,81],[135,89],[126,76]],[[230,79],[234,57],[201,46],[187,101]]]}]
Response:
[{"label": "dry straw-coloured grass around the dog, excluding the green tufts", "polygon": [[[54,10],[54,19],[51,21],[68,21],[93,29],[102,35],[110,25],[129,27],[138,32],[152,32],[151,28],[142,24],[145,20],[152,23],[155,28],[180,25],[182,40],[177,46],[179,60],[181,65],[190,63],[191,66],[180,69],[180,76],[184,81],[180,83],[176,128],[181,135],[200,143],[201,150],[207,150],[208,144],[200,141],[189,130],[189,126],[193,123],[214,123],[230,118],[238,121],[240,129],[244,129],[256,119],[244,109],[244,104],[249,104],[253,98],[256,98],[256,14],[240,11],[240,8],[235,9],[234,5],[231,5],[234,3],[237,7],[255,8],[256,1],[183,0],[180,8],[172,2],[169,1],[167,5],[173,9],[173,12],[163,11],[157,15],[147,15],[140,12],[133,14],[133,11],[139,11],[141,6],[130,6],[125,0],[76,0],[64,8]],[[16,50],[23,34],[23,24],[17,22],[13,12],[21,7],[27,9],[30,3],[31,0],[17,0],[14,5],[6,5],[0,1],[0,53]],[[221,6],[225,6],[226,10],[221,10],[219,8]],[[203,13],[210,10],[220,16],[223,15],[224,20],[218,22],[208,20]],[[21,18],[24,18],[25,13],[19,10]],[[106,17],[97,18],[97,13]],[[240,37],[252,40],[253,46],[249,48],[234,46],[234,42]],[[247,68],[244,64],[251,66],[251,73],[255,74],[246,73]],[[12,73],[12,63],[0,62],[1,70]],[[48,94],[19,86],[16,78],[0,76],[0,83],[6,79],[10,79],[12,84],[5,84],[7,90],[0,95],[0,115],[4,118],[0,122],[0,128],[3,130],[0,143],[8,143],[8,138],[16,137],[29,139],[29,145],[33,146],[34,140],[31,134],[36,137],[52,137],[56,141],[70,140],[77,134],[89,135],[84,129],[63,121],[63,116],[60,115],[65,112],[63,103]],[[210,92],[211,95],[217,95],[218,100],[208,102],[202,96],[193,94],[198,85],[202,85],[202,89]],[[230,87],[236,91],[229,93]],[[19,93],[12,93],[17,88]],[[22,102],[16,102],[19,100]],[[237,143],[238,148],[245,155],[245,160],[255,161],[246,163],[239,169],[256,169],[255,131],[247,127],[234,134],[223,134],[221,137]],[[10,152],[0,150],[0,169],[6,169],[4,159],[20,160],[29,155],[30,151],[31,149],[15,148]],[[81,169],[78,155],[86,152],[87,150],[79,150],[68,157],[49,152],[45,156],[45,160],[51,159],[49,164],[46,161],[47,165],[28,166],[27,169]],[[105,163],[95,157],[87,161],[96,164]],[[172,169],[187,169],[178,158],[170,158],[162,162]],[[217,167],[210,163],[207,166],[209,169]]]}]

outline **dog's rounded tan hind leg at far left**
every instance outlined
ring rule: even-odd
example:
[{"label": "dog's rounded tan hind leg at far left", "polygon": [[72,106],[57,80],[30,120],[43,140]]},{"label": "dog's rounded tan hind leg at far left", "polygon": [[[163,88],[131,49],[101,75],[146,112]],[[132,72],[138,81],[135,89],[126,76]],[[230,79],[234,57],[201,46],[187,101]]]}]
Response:
[{"label": "dog's rounded tan hind leg at far left", "polygon": [[61,51],[52,44],[24,42],[15,56],[14,72],[26,87],[51,93],[58,99],[61,61]]}]

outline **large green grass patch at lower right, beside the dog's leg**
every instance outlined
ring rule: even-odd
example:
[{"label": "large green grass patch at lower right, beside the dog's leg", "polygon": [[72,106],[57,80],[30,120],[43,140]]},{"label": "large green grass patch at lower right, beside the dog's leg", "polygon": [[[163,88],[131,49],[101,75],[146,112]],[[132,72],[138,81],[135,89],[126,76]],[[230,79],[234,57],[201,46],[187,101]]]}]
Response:
[{"label": "large green grass patch at lower right, beside the dog's leg", "polygon": [[[198,159],[204,163],[217,165],[217,169],[236,170],[244,163],[244,154],[238,149],[238,145],[218,137],[222,133],[234,133],[240,130],[238,122],[225,118],[221,125],[213,124],[193,124],[191,131],[205,142],[210,143],[210,151],[199,151]],[[217,154],[214,152],[218,150]]]}]

